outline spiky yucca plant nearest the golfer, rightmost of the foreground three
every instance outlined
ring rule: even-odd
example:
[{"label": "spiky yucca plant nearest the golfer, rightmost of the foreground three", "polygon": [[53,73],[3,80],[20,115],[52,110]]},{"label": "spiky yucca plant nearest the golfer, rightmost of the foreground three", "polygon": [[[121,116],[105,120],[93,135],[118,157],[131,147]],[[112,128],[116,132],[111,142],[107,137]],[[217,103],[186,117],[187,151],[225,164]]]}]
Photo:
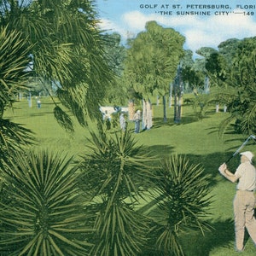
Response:
[{"label": "spiky yucca plant nearest the golfer, rightmost of the foreground three", "polygon": [[177,154],[163,161],[158,176],[152,234],[157,237],[160,251],[166,255],[183,255],[178,240],[180,232],[199,229],[203,233],[209,228],[202,220],[211,203],[209,177],[201,166],[190,165],[186,157]]}]

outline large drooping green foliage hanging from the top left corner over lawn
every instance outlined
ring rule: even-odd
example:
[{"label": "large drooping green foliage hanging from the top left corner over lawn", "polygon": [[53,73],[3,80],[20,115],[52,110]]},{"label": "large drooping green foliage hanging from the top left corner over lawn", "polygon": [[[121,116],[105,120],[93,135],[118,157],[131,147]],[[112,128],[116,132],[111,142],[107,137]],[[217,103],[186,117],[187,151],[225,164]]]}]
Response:
[{"label": "large drooping green foliage hanging from the top left corner over lawn", "polygon": [[[2,1],[1,24],[20,31],[32,46],[33,71],[58,88],[61,103],[86,125],[95,118],[112,73],[103,52],[94,2]],[[55,102],[55,117],[73,131],[70,117]]]}]

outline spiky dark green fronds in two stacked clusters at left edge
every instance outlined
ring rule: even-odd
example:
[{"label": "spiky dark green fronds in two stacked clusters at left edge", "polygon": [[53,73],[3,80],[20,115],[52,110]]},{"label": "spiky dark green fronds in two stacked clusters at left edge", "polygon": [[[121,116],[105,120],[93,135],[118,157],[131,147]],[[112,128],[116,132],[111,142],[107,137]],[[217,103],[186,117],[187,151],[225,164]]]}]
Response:
[{"label": "spiky dark green fronds in two stacked clusters at left edge", "polygon": [[20,32],[8,32],[8,27],[0,31],[0,171],[16,150],[32,143],[32,131],[20,124],[3,118],[7,108],[11,108],[20,90],[27,90],[30,73],[26,40]]}]

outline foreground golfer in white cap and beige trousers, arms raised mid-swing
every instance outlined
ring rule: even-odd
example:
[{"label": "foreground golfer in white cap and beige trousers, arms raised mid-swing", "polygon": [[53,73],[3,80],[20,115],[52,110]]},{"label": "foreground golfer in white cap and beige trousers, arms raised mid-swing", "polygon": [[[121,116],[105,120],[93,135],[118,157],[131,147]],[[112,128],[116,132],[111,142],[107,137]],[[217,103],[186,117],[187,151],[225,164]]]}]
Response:
[{"label": "foreground golfer in white cap and beige trousers, arms raised mid-swing", "polygon": [[242,252],[244,249],[244,232],[247,228],[256,246],[256,220],[254,218],[254,207],[256,198],[253,191],[256,190],[256,170],[252,164],[253,153],[242,152],[241,164],[237,167],[235,174],[228,170],[226,163],[219,166],[218,171],[230,182],[236,183],[236,195],[233,202],[235,214],[236,250]]}]

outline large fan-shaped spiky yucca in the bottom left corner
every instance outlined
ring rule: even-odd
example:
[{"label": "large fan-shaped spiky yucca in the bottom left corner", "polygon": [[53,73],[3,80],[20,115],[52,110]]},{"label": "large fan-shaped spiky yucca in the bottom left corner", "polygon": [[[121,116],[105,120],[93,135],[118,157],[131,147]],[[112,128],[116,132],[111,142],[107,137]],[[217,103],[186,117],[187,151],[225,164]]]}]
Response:
[{"label": "large fan-shaped spiky yucca in the bottom left corner", "polygon": [[61,154],[17,154],[3,174],[1,255],[87,255],[77,168]]}]

